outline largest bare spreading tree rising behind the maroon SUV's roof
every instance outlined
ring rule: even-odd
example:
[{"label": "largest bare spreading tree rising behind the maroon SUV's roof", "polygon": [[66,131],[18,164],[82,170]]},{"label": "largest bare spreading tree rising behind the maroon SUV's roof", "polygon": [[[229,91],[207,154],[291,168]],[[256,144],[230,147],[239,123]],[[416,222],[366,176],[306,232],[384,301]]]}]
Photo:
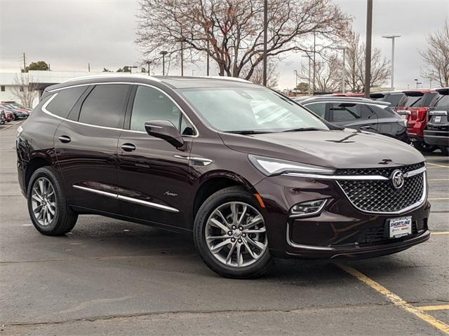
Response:
[{"label": "largest bare spreading tree rising behind the maroon SUV's roof", "polygon": [[[140,0],[138,43],[144,59],[159,62],[161,50],[173,59],[195,62],[208,54],[220,76],[250,79],[263,61],[263,0]],[[349,18],[331,0],[271,0],[267,56],[309,50],[316,34],[333,43]],[[243,76],[244,74],[244,76]]]}]

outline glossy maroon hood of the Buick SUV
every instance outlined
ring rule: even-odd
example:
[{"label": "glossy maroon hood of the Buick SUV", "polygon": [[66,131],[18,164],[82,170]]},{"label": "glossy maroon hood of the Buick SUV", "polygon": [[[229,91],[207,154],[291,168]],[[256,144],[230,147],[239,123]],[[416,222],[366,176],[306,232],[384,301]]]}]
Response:
[{"label": "glossy maroon hood of the Buick SUV", "polygon": [[351,129],[254,135],[220,133],[220,137],[234,151],[323,167],[395,167],[425,161],[408,144]]}]

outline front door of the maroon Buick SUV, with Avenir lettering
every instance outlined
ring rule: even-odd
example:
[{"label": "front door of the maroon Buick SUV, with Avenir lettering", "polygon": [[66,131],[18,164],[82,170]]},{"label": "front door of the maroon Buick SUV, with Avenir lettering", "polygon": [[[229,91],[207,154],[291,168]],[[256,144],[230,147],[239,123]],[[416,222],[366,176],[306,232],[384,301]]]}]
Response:
[{"label": "front door of the maroon Buick SUV, with Avenir lettering", "polygon": [[[137,85],[130,115],[119,139],[119,202],[121,214],[143,221],[191,228],[187,214],[192,202],[189,153],[196,131],[168,94]],[[185,148],[145,132],[145,122],[168,120],[180,130]]]}]

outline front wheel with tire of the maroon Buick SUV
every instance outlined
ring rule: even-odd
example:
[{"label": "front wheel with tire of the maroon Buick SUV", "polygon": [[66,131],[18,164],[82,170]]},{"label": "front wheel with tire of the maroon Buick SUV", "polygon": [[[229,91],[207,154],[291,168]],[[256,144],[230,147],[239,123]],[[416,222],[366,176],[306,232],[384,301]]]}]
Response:
[{"label": "front wheel with tire of the maroon Buick SUV", "polygon": [[267,272],[272,257],[262,213],[254,195],[244,188],[229,187],[211,195],[194,223],[194,244],[203,262],[217,274],[235,279],[256,278]]}]

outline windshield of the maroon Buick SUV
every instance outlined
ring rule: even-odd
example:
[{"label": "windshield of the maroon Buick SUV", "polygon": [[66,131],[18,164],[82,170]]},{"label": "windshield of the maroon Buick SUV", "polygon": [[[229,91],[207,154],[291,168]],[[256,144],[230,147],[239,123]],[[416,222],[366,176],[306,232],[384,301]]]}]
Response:
[{"label": "windshield of the maroon Buick SUV", "polygon": [[222,132],[329,130],[318,117],[272,90],[208,87],[181,93],[203,119]]}]

